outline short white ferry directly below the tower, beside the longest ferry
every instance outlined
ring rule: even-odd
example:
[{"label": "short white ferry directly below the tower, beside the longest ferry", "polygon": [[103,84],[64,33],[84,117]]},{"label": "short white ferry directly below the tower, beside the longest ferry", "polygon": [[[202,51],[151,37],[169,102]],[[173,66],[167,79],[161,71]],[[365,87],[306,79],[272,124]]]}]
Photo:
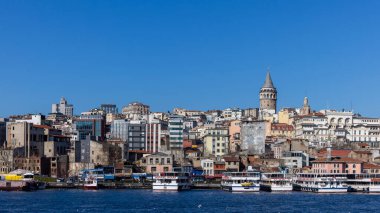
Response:
[{"label": "short white ferry directly below the tower, beside the longest ferry", "polygon": [[292,191],[292,178],[285,173],[263,173],[260,189],[269,192]]}]

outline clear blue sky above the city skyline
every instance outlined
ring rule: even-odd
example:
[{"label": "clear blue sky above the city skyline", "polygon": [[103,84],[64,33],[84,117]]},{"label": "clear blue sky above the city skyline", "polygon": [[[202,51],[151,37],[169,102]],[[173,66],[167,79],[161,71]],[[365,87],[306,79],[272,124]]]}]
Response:
[{"label": "clear blue sky above the city skyline", "polygon": [[380,116],[380,1],[0,1],[0,116],[131,101]]}]

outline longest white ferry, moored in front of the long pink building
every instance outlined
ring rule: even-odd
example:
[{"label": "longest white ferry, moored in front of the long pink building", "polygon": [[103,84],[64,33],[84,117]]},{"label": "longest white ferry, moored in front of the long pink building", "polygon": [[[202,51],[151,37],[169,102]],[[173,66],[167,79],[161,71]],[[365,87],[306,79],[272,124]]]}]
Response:
[{"label": "longest white ferry, moored in front of the long pink building", "polygon": [[293,181],[295,191],[344,193],[348,191],[347,174],[299,173]]}]

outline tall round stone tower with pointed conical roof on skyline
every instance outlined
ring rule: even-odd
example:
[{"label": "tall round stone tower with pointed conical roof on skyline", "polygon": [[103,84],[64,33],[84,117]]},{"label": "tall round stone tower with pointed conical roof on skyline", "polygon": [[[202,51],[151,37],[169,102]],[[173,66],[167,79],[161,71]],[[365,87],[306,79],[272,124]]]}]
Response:
[{"label": "tall round stone tower with pointed conical roof on skyline", "polygon": [[268,70],[263,87],[260,90],[260,110],[273,111],[277,109],[277,89],[274,87]]}]

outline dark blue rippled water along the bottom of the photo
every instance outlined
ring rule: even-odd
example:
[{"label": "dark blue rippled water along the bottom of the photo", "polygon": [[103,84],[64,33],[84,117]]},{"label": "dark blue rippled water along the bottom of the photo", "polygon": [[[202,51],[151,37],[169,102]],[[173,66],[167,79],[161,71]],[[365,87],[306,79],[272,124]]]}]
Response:
[{"label": "dark blue rippled water along the bottom of the photo", "polygon": [[0,203],[1,212],[375,212],[380,194],[43,190],[0,192]]}]

